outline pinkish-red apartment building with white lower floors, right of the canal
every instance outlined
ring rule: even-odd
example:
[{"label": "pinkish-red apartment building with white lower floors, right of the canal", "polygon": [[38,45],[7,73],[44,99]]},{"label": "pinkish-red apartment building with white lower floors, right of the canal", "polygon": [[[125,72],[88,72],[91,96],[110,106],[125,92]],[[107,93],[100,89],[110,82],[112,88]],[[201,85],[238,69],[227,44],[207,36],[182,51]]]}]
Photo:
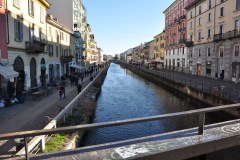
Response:
[{"label": "pinkish-red apartment building with white lower floors, right of the canal", "polygon": [[179,71],[185,71],[187,62],[187,49],[185,46],[187,36],[186,1],[175,0],[163,12],[165,14],[164,32],[166,40],[165,66]]}]

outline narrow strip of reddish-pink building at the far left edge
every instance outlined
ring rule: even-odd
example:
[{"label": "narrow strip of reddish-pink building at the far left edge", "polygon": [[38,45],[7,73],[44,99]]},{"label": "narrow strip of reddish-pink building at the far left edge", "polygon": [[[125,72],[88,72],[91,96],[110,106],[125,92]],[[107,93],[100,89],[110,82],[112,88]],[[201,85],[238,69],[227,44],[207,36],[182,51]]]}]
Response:
[{"label": "narrow strip of reddish-pink building at the far left edge", "polygon": [[0,62],[7,61],[7,31],[6,31],[6,11],[5,2],[0,0]]}]

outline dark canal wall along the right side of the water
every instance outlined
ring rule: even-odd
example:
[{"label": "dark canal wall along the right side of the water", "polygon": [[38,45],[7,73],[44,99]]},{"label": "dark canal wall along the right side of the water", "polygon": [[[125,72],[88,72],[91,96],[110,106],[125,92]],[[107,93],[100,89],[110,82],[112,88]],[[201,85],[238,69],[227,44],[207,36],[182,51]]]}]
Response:
[{"label": "dark canal wall along the right side of the water", "polygon": [[[228,99],[224,99],[219,96],[204,92],[199,88],[194,88],[192,86],[187,86],[182,83],[173,81],[172,79],[170,79],[171,77],[163,77],[157,74],[157,72],[154,70],[139,67],[136,65],[129,65],[121,61],[115,61],[114,63],[120,64],[121,66],[131,70],[132,72],[138,74],[141,77],[154,81],[158,85],[161,85],[161,87],[170,90],[179,97],[185,98],[186,100],[189,99],[189,102],[192,102],[192,105],[195,105],[196,108],[206,108],[233,103]],[[196,106],[196,103],[194,102],[200,103],[201,105]],[[239,112],[236,110],[226,110],[225,112],[234,117],[240,117]]]}]

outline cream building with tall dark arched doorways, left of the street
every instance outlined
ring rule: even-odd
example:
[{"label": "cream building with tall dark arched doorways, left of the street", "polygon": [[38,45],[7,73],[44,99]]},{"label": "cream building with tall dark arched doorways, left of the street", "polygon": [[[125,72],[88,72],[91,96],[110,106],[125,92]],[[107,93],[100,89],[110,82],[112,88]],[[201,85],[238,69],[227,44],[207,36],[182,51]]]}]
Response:
[{"label": "cream building with tall dark arched doorways, left of the street", "polygon": [[46,84],[46,0],[13,0],[7,3],[9,66],[19,73],[16,95]]}]

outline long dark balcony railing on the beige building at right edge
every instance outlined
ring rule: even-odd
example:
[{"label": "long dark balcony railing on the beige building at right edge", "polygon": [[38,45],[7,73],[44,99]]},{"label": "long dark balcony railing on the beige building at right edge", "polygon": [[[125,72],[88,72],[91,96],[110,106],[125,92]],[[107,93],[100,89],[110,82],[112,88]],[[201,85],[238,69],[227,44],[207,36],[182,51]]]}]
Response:
[{"label": "long dark balcony railing on the beige building at right edge", "polygon": [[233,39],[233,38],[238,38],[238,37],[240,37],[240,28],[232,30],[232,31],[228,31],[226,33],[215,34],[214,41],[217,42],[217,41],[222,41],[225,39]]}]

